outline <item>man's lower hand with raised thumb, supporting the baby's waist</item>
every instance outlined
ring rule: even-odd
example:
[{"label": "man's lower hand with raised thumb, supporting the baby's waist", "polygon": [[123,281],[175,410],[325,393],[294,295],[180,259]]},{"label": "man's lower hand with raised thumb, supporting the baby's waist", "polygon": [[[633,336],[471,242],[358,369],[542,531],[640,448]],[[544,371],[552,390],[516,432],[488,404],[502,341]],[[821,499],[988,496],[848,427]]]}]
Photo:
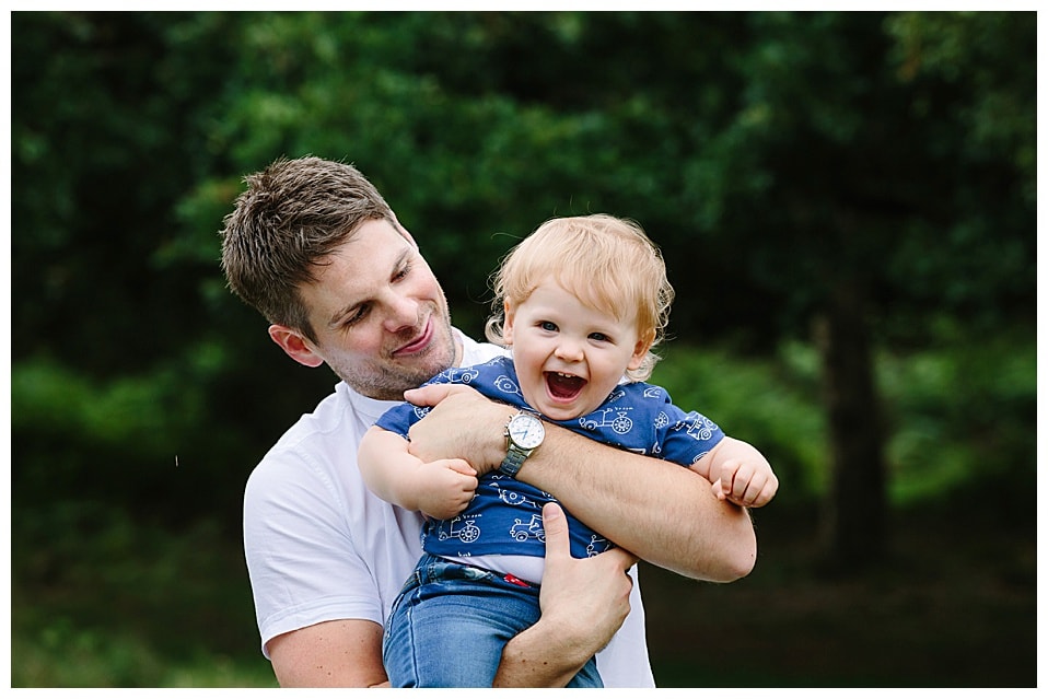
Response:
[{"label": "man's lower hand with raised thumb, supporting the baby's waist", "polygon": [[546,572],[539,592],[543,616],[506,643],[496,687],[563,687],[607,645],[629,614],[637,557],[614,548],[572,558],[568,520],[560,505],[543,508]]}]

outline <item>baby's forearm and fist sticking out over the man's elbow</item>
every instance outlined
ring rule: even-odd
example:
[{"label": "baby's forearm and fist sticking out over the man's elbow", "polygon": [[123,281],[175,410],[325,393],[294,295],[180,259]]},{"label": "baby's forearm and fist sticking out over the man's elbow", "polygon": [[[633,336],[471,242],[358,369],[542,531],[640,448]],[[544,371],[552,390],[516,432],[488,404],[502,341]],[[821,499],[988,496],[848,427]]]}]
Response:
[{"label": "baby's forearm and fist sticking out over the man's elbow", "polygon": [[713,484],[718,500],[761,508],[779,490],[771,464],[753,445],[725,436],[691,468]]}]

